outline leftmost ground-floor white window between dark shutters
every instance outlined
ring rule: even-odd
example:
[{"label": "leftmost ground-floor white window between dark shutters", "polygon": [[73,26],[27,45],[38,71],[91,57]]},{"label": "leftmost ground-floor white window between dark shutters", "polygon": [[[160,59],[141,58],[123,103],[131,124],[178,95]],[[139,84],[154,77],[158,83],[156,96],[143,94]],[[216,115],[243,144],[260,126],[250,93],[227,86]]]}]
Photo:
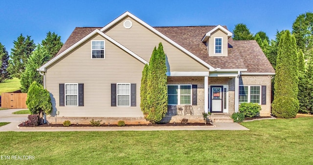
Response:
[{"label": "leftmost ground-floor white window between dark shutters", "polygon": [[65,84],[66,106],[78,106],[78,84]]}]

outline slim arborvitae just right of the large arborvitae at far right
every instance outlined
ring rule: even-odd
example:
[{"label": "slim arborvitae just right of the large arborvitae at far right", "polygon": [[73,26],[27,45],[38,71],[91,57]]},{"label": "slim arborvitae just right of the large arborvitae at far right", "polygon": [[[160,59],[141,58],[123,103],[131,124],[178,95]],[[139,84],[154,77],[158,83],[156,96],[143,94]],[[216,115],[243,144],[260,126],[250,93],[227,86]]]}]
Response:
[{"label": "slim arborvitae just right of the large arborvitae at far right", "polygon": [[298,100],[299,100],[299,112],[308,113],[309,95],[308,91],[308,77],[305,73],[305,63],[302,51],[299,51],[299,83],[298,83]]}]

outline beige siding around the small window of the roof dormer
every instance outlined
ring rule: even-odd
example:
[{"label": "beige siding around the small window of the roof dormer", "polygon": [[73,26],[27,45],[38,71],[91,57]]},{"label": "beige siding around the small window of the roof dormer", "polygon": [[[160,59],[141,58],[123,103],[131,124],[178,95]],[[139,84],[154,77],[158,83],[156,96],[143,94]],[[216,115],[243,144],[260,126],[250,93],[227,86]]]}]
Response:
[{"label": "beige siding around the small window of the roof dormer", "polygon": [[[215,38],[216,37],[222,37],[222,54],[215,54],[215,49],[214,49],[214,45],[215,45]],[[211,34],[211,37],[209,38],[209,55],[210,56],[227,56],[228,52],[227,52],[227,48],[228,48],[228,37],[227,34],[225,34],[223,31],[221,31],[220,29],[218,29],[217,31],[213,32]]]}]

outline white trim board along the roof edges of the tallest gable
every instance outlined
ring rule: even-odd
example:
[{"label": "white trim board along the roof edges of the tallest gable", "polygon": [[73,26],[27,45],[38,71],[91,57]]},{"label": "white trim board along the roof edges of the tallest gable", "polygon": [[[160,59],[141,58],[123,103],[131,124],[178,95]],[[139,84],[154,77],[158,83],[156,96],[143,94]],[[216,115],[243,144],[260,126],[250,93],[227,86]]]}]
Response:
[{"label": "white trim board along the roof edges of the tallest gable", "polygon": [[[180,46],[179,44],[177,44],[176,42],[174,42],[172,39],[170,39],[169,37],[166,37],[165,35],[163,35],[162,33],[160,33],[159,31],[157,31],[155,28],[153,28],[152,26],[150,26],[149,24],[147,24],[146,22],[144,22],[143,20],[137,18],[136,16],[134,16],[132,13],[130,12],[125,12],[124,14],[122,14],[121,16],[119,16],[118,18],[114,19],[112,22],[110,22],[109,24],[107,24],[106,26],[104,26],[103,28],[100,29],[101,32],[107,30],[108,28],[110,28],[112,25],[114,25],[116,22],[120,21],[122,18],[129,16],[131,18],[133,18],[135,21],[139,22],[140,24],[142,24],[144,27],[146,27],[147,29],[149,29],[150,31],[152,31],[153,33],[155,33],[157,36],[163,38],[164,40],[168,41],[169,43],[173,44],[175,47],[177,47],[179,50],[181,50],[182,52],[184,52],[185,54],[191,56],[193,59],[195,59],[196,61],[198,61],[199,63],[201,63],[202,65],[204,65],[205,67],[209,68],[210,71],[214,71],[214,67],[212,67],[211,65],[209,65],[208,63],[204,62],[203,60],[201,60],[198,56],[192,54],[191,52],[189,52],[187,49],[183,48],[182,46]],[[223,28],[223,27],[222,27]],[[224,28],[225,29],[225,28]]]}]

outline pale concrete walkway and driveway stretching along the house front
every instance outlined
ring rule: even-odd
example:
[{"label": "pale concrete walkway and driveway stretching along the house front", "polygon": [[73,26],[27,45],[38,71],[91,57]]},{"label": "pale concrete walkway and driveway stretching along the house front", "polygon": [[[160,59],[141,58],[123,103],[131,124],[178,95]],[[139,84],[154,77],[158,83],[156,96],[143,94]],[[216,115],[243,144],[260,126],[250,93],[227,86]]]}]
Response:
[{"label": "pale concrete walkway and driveway stretching along the house front", "polygon": [[215,126],[161,126],[161,127],[45,127],[45,128],[18,128],[27,120],[27,114],[12,114],[14,110],[0,110],[0,122],[11,122],[0,127],[0,131],[152,131],[152,130],[249,130],[238,123],[214,123]]}]

